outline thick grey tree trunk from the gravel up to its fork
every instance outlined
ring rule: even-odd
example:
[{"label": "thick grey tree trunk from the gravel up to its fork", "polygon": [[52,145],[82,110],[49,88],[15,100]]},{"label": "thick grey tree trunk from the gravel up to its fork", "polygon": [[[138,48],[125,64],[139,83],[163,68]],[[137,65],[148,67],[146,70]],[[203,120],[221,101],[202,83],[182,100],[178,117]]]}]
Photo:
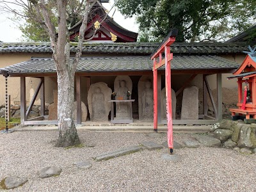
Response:
[{"label": "thick grey tree trunk from the gravel up to its fork", "polygon": [[58,129],[56,147],[69,147],[80,144],[74,124],[74,74],[60,70],[58,75]]}]

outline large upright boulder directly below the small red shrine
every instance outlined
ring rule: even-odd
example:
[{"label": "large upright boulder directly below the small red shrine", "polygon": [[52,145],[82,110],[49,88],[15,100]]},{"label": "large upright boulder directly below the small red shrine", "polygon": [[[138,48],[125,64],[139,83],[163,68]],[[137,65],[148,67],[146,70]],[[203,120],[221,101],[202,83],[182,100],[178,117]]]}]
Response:
[{"label": "large upright boulder directly below the small red shrine", "polygon": [[243,127],[240,129],[239,138],[237,141],[237,146],[240,148],[251,148],[253,144],[250,140],[252,129],[250,125],[244,124]]}]

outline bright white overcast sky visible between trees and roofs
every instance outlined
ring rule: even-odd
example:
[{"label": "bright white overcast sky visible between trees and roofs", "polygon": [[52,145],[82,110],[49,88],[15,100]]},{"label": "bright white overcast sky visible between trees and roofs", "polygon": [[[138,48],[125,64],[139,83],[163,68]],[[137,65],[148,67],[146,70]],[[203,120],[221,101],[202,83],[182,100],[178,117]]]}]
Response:
[{"label": "bright white overcast sky visible between trees and roofs", "polygon": [[[102,5],[110,10],[113,3],[114,1],[110,0],[109,3],[102,3]],[[113,11],[114,9],[109,13],[110,16],[113,15]],[[22,32],[19,30],[18,24],[8,19],[8,17],[13,16],[14,15],[10,13],[0,12],[0,40],[2,42],[22,42]],[[134,17],[125,19],[124,16],[116,10],[113,18],[123,28],[138,32],[138,24],[136,24]]]}]

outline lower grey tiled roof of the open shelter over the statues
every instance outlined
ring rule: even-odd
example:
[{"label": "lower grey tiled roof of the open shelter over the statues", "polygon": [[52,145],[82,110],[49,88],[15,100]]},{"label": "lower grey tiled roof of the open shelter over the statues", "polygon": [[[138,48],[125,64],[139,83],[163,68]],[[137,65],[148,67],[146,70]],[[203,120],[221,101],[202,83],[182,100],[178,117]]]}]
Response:
[{"label": "lower grey tiled roof of the open shelter over the statues", "polygon": [[[84,57],[77,65],[77,72],[145,71],[152,70],[152,65],[153,62],[149,56]],[[172,60],[172,70],[231,70],[237,67],[239,67],[238,63],[220,56],[173,56]],[[51,58],[32,58],[1,70],[8,71],[9,74],[49,73],[56,72],[56,67]]]}]

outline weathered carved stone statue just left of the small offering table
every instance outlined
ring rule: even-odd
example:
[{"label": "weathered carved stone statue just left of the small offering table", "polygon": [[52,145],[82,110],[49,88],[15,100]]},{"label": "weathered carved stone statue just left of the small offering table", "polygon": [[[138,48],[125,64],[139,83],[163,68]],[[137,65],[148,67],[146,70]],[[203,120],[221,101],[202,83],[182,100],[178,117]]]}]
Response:
[{"label": "weathered carved stone statue just left of the small offering table", "polygon": [[91,84],[88,92],[88,107],[91,121],[108,121],[111,110],[111,88],[106,83]]}]

